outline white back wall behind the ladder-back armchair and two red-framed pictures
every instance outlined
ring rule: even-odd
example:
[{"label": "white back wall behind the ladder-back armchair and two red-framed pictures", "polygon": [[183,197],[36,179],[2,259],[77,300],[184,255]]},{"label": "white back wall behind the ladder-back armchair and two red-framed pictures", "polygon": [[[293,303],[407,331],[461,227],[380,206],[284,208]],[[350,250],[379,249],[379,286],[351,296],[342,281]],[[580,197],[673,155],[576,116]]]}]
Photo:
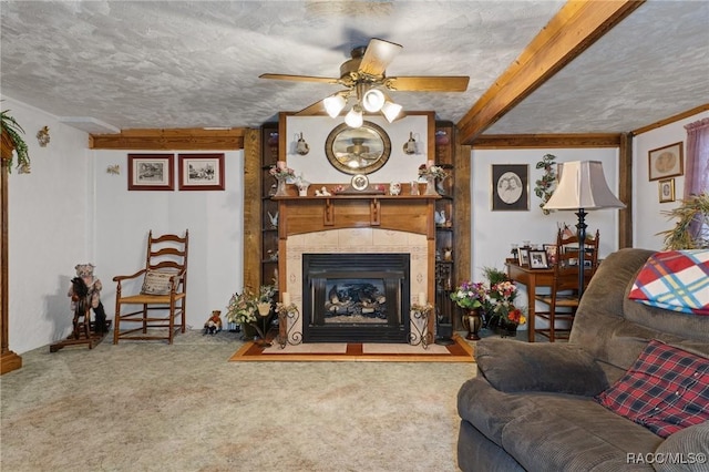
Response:
[{"label": "white back wall behind the ladder-back armchair and two red-framed pictures", "polygon": [[[156,154],[155,151],[150,153]],[[157,153],[175,154],[175,178],[179,153]],[[91,218],[95,235],[93,259],[96,275],[104,281],[102,300],[106,315],[113,318],[115,311],[115,284],[111,279],[116,275],[133,274],[145,265],[148,232],[152,229],[154,235],[184,234],[189,229],[186,321],[188,328],[201,329],[212,310],[225,310],[232,294],[242,291],[244,283],[243,151],[225,153],[223,192],[179,192],[177,183],[172,192],[129,192],[129,152],[95,151],[92,154],[95,185]],[[107,166],[115,164],[121,166],[121,175],[106,172]],[[133,289],[140,290],[140,287]]]}]

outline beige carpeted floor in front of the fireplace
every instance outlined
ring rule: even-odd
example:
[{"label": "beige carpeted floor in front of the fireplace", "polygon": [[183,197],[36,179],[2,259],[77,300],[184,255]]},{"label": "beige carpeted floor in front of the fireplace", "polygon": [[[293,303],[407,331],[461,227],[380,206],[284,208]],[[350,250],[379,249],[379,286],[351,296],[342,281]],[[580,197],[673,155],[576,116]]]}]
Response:
[{"label": "beige carpeted floor in front of the fireplace", "polygon": [[229,362],[238,335],[24,352],[6,471],[456,471],[463,362]]}]

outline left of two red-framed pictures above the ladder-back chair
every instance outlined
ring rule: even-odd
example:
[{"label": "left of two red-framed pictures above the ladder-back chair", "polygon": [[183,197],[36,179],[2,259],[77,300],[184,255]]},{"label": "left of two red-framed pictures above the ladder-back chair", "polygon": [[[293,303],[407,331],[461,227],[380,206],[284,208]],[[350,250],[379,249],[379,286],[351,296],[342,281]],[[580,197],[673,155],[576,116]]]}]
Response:
[{"label": "left of two red-framed pictures above the ladder-back chair", "polygon": [[129,154],[129,191],[175,189],[174,154]]}]

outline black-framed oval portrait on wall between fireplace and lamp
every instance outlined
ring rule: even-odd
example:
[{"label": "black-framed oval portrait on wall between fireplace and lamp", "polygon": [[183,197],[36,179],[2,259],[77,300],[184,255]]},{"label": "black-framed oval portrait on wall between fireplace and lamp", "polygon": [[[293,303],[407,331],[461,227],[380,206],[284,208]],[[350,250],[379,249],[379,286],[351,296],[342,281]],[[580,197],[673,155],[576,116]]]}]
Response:
[{"label": "black-framed oval portrait on wall between fireplace and lamp", "polygon": [[491,174],[493,212],[530,209],[528,164],[493,164]]}]

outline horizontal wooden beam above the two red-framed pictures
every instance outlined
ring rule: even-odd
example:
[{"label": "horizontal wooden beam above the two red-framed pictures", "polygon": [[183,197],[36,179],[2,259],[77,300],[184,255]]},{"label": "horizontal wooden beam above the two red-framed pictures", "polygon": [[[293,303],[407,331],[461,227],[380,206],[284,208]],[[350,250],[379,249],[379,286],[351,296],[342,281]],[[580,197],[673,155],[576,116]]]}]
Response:
[{"label": "horizontal wooden beam above the two red-framed pictures", "polygon": [[91,134],[92,150],[144,150],[144,151],[234,151],[244,148],[245,127],[226,130],[135,129],[117,134]]}]

